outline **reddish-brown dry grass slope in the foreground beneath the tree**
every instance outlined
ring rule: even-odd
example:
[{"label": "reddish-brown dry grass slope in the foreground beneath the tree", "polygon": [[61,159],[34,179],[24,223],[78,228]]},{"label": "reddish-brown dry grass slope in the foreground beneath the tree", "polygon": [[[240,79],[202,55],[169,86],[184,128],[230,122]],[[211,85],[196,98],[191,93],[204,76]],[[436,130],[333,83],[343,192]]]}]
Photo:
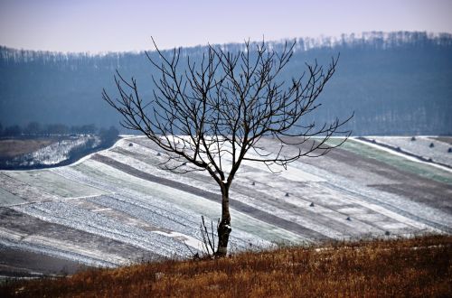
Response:
[{"label": "reddish-brown dry grass slope in the foreground beneath the tree", "polygon": [[450,236],[287,247],[5,284],[0,296],[450,297],[451,247]]}]

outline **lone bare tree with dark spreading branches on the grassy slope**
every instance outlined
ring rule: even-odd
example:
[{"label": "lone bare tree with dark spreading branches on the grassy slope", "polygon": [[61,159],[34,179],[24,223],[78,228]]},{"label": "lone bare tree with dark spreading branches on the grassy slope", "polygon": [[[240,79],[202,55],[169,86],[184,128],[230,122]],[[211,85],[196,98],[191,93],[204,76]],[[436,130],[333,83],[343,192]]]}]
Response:
[{"label": "lone bare tree with dark spreading branches on the grassy slope", "polygon": [[[153,40],[154,42],[154,40]],[[155,42],[154,42],[155,45]],[[158,70],[152,77],[152,100],[140,97],[137,80],[115,76],[118,98],[102,97],[122,115],[121,125],[139,131],[165,150],[165,169],[173,172],[207,171],[221,189],[221,221],[218,224],[217,256],[225,256],[231,233],[229,191],[243,161],[279,165],[302,156],[319,156],[332,146],[325,142],[340,132],[351,118],[332,124],[306,124],[306,114],[319,107],[315,103],[331,79],[338,57],[324,68],[306,64],[297,78],[285,82],[281,71],[292,57],[295,42],[281,51],[266,42],[245,42],[241,51],[229,52],[210,45],[202,60],[191,61],[181,49],[171,54],[155,45],[157,58],[146,52]],[[181,62],[184,60],[184,62]],[[284,146],[315,142],[297,153],[284,153]],[[273,138],[277,152],[259,148],[259,140]]]}]

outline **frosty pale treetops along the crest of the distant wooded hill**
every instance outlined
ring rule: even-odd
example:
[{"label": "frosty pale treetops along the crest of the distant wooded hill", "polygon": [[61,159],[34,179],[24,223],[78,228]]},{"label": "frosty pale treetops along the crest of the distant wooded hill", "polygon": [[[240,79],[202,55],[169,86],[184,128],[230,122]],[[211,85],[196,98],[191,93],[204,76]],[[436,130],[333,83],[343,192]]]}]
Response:
[{"label": "frosty pale treetops along the crest of the distant wooded hill", "polygon": [[[451,46],[452,34],[450,33],[426,33],[426,32],[366,32],[341,34],[340,37],[321,36],[318,38],[298,37],[294,39],[295,51],[308,51],[325,48],[367,48],[367,49],[391,49],[400,47],[418,46],[421,48]],[[256,44],[256,42],[251,42]],[[259,42],[258,42],[259,43]],[[283,42],[266,42],[274,50],[280,51]],[[243,43],[221,44],[221,49],[225,51],[241,51],[244,49]],[[198,54],[206,49],[206,46],[194,46],[181,49],[182,56]],[[163,51],[169,53],[171,51]],[[151,51],[156,56],[155,51]],[[58,52],[58,51],[32,51],[17,50],[0,45],[0,65],[11,64],[40,64],[53,65],[55,67],[78,68],[89,67],[93,69],[109,68],[118,69],[127,67],[130,61],[139,60],[139,56],[144,55],[144,51],[126,52],[106,52],[91,54],[89,52]]]}]

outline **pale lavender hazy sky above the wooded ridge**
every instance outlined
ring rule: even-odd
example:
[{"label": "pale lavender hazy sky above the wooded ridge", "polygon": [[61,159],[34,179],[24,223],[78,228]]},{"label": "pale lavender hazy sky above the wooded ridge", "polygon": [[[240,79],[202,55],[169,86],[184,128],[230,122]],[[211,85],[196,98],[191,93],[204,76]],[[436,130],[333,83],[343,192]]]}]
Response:
[{"label": "pale lavender hazy sky above the wooded ridge", "polygon": [[336,36],[452,33],[452,0],[0,0],[0,44],[46,51],[152,49]]}]

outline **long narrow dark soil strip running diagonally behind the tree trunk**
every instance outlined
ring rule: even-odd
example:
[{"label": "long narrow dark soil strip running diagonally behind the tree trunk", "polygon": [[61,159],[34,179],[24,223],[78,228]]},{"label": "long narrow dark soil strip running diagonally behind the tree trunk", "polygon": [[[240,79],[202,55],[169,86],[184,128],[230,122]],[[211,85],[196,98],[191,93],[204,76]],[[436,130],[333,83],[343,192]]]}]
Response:
[{"label": "long narrow dark soil strip running diagonally behind the tree trunk", "polygon": [[[100,163],[108,164],[123,172],[127,172],[128,174],[136,176],[138,178],[145,179],[150,182],[163,184],[163,185],[166,185],[166,186],[169,186],[169,187],[181,190],[181,191],[186,191],[186,192],[200,196],[207,200],[212,200],[212,201],[216,201],[216,202],[220,201],[220,198],[219,198],[218,194],[216,194],[216,193],[213,193],[210,191],[203,191],[203,190],[200,190],[200,189],[195,188],[190,185],[186,185],[181,182],[175,182],[175,181],[165,179],[162,177],[157,177],[157,176],[152,175],[147,172],[139,171],[125,163],[119,163],[118,161],[115,161],[107,156],[95,154],[91,158]],[[328,239],[328,237],[326,237],[325,235],[320,234],[318,232],[315,232],[315,230],[303,227],[303,226],[301,226],[295,222],[289,221],[287,219],[281,219],[268,212],[265,212],[265,211],[256,209],[254,207],[251,207],[250,205],[244,204],[244,203],[240,202],[239,200],[230,199],[230,203],[231,203],[231,208],[233,208],[234,210],[238,210],[240,212],[246,213],[247,215],[249,215],[255,219],[263,220],[263,221],[268,222],[269,224],[275,225],[279,228],[285,228],[300,236],[315,238],[316,240]]]}]

